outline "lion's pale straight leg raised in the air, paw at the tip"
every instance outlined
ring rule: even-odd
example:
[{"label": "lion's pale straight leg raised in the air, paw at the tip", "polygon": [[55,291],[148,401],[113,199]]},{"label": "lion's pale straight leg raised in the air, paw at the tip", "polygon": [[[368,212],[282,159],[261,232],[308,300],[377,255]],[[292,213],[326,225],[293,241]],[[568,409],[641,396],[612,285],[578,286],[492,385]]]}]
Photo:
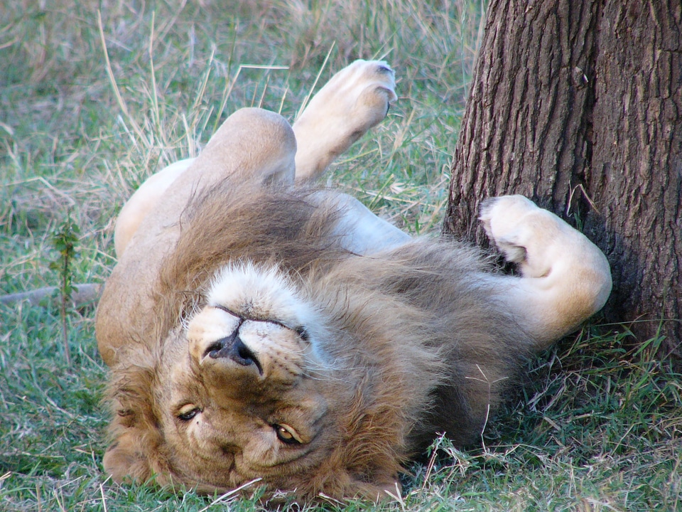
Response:
[{"label": "lion's pale straight leg raised in the air, paw at the tip", "polygon": [[296,181],[318,178],[397,99],[394,71],[381,60],[356,60],[318,92],[293,124]]}]

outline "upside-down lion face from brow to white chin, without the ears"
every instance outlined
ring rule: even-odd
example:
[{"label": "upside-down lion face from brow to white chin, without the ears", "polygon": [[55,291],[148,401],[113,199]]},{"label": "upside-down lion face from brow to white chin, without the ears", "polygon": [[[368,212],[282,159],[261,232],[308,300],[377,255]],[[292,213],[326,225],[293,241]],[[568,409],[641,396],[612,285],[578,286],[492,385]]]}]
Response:
[{"label": "upside-down lion face from brow to white chin, without the ears", "polygon": [[325,370],[311,316],[274,271],[230,267],[216,279],[161,377],[162,430],[185,478],[235,486],[319,463],[337,432],[315,380]]}]

